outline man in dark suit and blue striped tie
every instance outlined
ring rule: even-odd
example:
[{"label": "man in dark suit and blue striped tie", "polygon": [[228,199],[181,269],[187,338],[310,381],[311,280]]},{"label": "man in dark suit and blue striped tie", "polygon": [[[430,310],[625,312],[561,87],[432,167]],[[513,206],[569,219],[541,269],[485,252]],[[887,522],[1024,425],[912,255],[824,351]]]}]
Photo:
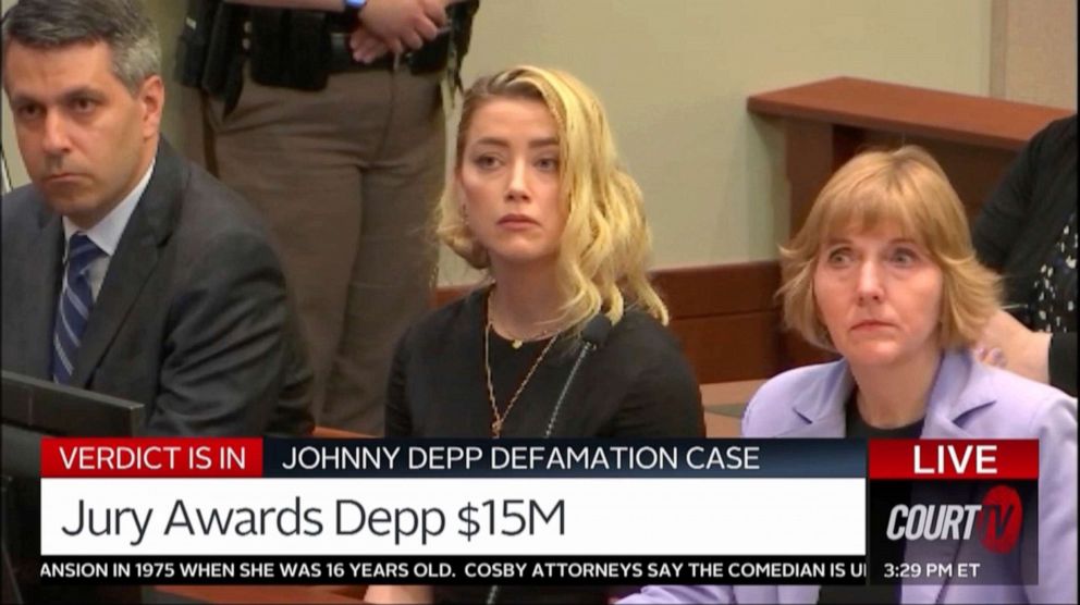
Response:
[{"label": "man in dark suit and blue striped tie", "polygon": [[161,138],[138,0],[21,0],[3,86],[33,181],[2,202],[3,368],[140,402],[150,434],[308,432],[268,232]]}]

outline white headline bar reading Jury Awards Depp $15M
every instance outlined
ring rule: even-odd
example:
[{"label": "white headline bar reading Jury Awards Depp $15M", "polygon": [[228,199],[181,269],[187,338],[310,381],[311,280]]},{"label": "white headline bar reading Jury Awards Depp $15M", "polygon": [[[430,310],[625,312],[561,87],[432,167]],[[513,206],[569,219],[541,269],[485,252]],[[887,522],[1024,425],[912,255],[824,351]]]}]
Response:
[{"label": "white headline bar reading Jury Awards Depp $15M", "polygon": [[863,479],[42,479],[49,555],[866,554]]}]

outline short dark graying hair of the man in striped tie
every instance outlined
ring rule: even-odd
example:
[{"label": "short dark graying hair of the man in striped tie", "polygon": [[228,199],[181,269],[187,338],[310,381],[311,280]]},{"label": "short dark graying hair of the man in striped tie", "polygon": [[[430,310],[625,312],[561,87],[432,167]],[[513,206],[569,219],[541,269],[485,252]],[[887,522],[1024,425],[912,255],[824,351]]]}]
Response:
[{"label": "short dark graying hair of the man in striped tie", "polygon": [[133,95],[161,73],[158,28],[140,0],[19,0],[3,18],[4,52],[12,41],[37,49],[103,41]]}]

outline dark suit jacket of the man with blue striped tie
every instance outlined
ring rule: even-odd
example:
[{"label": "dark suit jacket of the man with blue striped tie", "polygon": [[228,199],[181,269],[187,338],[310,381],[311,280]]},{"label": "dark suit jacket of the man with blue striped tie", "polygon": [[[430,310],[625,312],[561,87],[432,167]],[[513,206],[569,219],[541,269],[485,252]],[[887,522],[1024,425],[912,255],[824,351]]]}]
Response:
[{"label": "dark suit jacket of the man with blue striped tie", "polygon": [[[61,218],[33,185],[2,207],[2,366],[48,379]],[[71,385],[145,404],[148,434],[304,433],[311,375],[296,325],[259,218],[162,139]]]}]

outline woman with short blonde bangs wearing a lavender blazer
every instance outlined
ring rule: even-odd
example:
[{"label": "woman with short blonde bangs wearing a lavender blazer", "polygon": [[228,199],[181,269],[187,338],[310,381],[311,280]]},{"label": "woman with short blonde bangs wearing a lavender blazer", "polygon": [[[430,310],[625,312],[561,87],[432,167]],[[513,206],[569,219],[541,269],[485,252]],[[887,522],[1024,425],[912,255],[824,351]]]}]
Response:
[{"label": "woman with short blonde bangs wearing a lavender blazer", "polygon": [[[619,603],[1076,603],[1077,400],[972,357],[999,286],[975,260],[937,163],[915,147],[852,159],[782,262],[786,323],[843,359],[769,381],[747,407],[744,436],[1038,439],[1038,583],[1024,585],[998,557],[980,571],[998,585],[655,585]],[[965,560],[981,547],[955,543],[935,556]]]}]

